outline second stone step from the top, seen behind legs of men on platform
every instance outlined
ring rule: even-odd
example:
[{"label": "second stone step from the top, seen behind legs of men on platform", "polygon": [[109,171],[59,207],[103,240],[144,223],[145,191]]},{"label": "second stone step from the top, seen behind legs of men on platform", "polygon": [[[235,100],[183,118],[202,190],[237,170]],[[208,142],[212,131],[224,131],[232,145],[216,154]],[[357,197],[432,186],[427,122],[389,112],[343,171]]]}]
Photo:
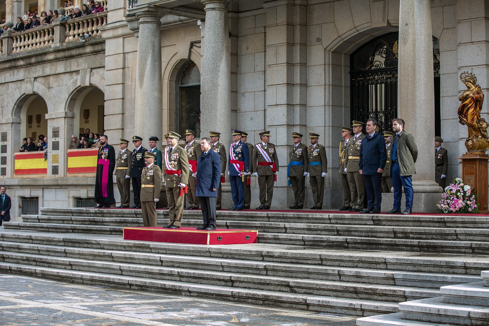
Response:
[{"label": "second stone step from the top, seen behind legs of men on platform", "polygon": [[[26,223],[53,223],[78,224],[102,226],[143,226],[142,218],[135,217],[69,217],[69,216],[30,216],[23,215],[22,221]],[[168,220],[158,219],[158,225],[165,225]],[[184,226],[197,227],[202,224],[201,219],[186,219]],[[260,233],[287,233],[322,236],[368,237],[391,239],[439,239],[461,241],[489,241],[487,229],[460,229],[439,227],[413,227],[413,226],[378,226],[378,225],[352,225],[352,224],[309,224],[263,222],[263,221],[235,221],[218,220],[218,228],[226,229],[253,229]]]}]

